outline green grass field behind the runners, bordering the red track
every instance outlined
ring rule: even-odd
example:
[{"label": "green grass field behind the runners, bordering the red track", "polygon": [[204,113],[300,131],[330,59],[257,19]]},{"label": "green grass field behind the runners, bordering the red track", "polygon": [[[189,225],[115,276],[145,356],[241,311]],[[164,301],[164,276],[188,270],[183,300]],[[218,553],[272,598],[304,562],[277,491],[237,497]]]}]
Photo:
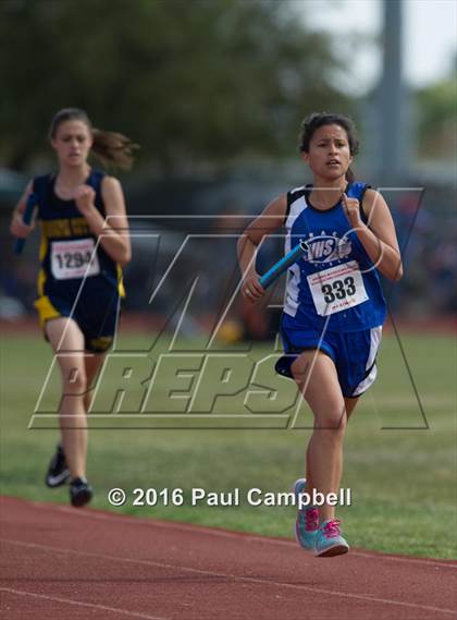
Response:
[{"label": "green grass field behind the runners, bordering the red track", "polygon": [[[143,342],[138,336],[123,336],[121,344],[138,350]],[[351,488],[353,506],[342,508],[338,516],[354,546],[452,558],[456,557],[457,531],[455,339],[452,335],[405,336],[403,342],[427,425],[398,344],[386,336],[375,387],[363,397],[349,424],[342,486]],[[252,355],[261,357],[267,352],[262,345]],[[58,431],[28,428],[50,361],[50,349],[38,333],[3,335],[1,491],[66,502],[66,488],[49,490],[42,483]],[[285,382],[281,384],[280,404],[281,399],[291,398],[293,389],[292,382],[281,381]],[[54,384],[52,398],[58,393]],[[166,380],[159,388],[156,411],[166,404]],[[110,391],[109,386],[107,389]],[[239,398],[222,399],[221,412],[236,413]],[[306,415],[310,422],[311,414]],[[243,498],[252,487],[289,490],[295,478],[302,475],[309,430],[192,429],[185,424],[182,421],[181,429],[125,429],[122,424],[115,428],[116,421],[109,418],[94,428],[88,462],[88,475],[97,491],[92,506],[144,518],[292,537],[295,516],[291,507],[254,508],[246,501],[231,508],[192,507],[187,502],[182,507],[131,506],[132,491],[137,487],[182,488],[186,498],[193,487],[214,491],[239,487]],[[123,508],[109,506],[107,493],[112,487],[127,491],[129,500]]]}]

